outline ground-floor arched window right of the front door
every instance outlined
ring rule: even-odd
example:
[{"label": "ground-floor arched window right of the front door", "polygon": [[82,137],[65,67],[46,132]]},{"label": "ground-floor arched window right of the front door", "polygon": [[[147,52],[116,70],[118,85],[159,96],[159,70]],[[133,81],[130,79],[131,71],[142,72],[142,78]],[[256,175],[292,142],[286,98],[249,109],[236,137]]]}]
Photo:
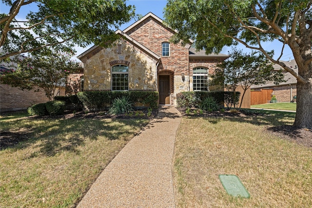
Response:
[{"label": "ground-floor arched window right of the front door", "polygon": [[196,67],[193,69],[193,91],[208,91],[208,69]]}]

